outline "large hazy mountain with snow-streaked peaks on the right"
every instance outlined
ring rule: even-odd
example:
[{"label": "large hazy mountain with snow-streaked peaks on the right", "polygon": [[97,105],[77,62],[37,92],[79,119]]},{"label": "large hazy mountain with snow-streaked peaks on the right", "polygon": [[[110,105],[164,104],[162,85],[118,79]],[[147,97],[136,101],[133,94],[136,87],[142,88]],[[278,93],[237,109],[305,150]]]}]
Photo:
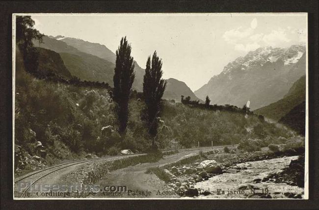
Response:
[{"label": "large hazy mountain with snow-streaked peaks on the right", "polygon": [[242,107],[248,100],[250,108],[282,99],[293,82],[305,75],[305,46],[290,48],[259,48],[227,64],[223,71],[194,93],[212,104]]}]

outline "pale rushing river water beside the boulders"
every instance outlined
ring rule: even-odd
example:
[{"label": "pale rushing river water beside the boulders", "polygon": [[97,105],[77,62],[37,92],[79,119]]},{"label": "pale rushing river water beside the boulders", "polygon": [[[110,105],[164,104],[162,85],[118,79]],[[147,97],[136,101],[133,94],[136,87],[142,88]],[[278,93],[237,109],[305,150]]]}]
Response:
[{"label": "pale rushing river water beside the boulders", "polygon": [[[298,156],[281,157],[268,160],[251,161],[236,164],[223,174],[214,176],[207,181],[199,182],[194,187],[208,190],[212,194],[197,198],[261,198],[259,195],[269,195],[271,198],[285,198],[284,193],[302,194],[304,188],[285,183],[262,182],[254,184],[253,180],[263,179],[269,174],[281,172],[291,160]],[[242,169],[239,169],[242,168]],[[253,191],[255,190],[255,191]],[[258,196],[256,193],[260,193]]]}]

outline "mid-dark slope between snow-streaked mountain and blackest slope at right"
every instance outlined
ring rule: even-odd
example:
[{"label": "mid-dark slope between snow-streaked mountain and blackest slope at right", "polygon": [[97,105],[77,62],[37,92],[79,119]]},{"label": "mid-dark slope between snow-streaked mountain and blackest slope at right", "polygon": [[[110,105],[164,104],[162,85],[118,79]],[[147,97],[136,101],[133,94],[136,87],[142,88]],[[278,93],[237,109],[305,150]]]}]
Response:
[{"label": "mid-dark slope between snow-streaked mountain and blackest slope at right", "polygon": [[[256,109],[254,112],[275,121],[287,115],[294,107],[306,100],[306,76],[295,81],[285,97],[275,103]],[[305,108],[305,107],[304,107]],[[297,119],[296,119],[297,120]],[[305,119],[302,119],[303,123]]]}]

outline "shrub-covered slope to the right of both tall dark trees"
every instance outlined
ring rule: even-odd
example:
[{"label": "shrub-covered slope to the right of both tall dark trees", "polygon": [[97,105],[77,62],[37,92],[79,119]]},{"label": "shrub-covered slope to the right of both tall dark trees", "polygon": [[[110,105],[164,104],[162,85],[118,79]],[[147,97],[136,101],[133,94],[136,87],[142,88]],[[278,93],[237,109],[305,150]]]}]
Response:
[{"label": "shrub-covered slope to the right of both tall dark trees", "polygon": [[191,105],[163,103],[160,140],[162,147],[173,143],[183,146],[238,144],[244,139],[259,139],[266,146],[284,143],[278,138],[290,138],[292,131],[279,124],[266,122],[263,117],[245,112],[195,108]]}]

